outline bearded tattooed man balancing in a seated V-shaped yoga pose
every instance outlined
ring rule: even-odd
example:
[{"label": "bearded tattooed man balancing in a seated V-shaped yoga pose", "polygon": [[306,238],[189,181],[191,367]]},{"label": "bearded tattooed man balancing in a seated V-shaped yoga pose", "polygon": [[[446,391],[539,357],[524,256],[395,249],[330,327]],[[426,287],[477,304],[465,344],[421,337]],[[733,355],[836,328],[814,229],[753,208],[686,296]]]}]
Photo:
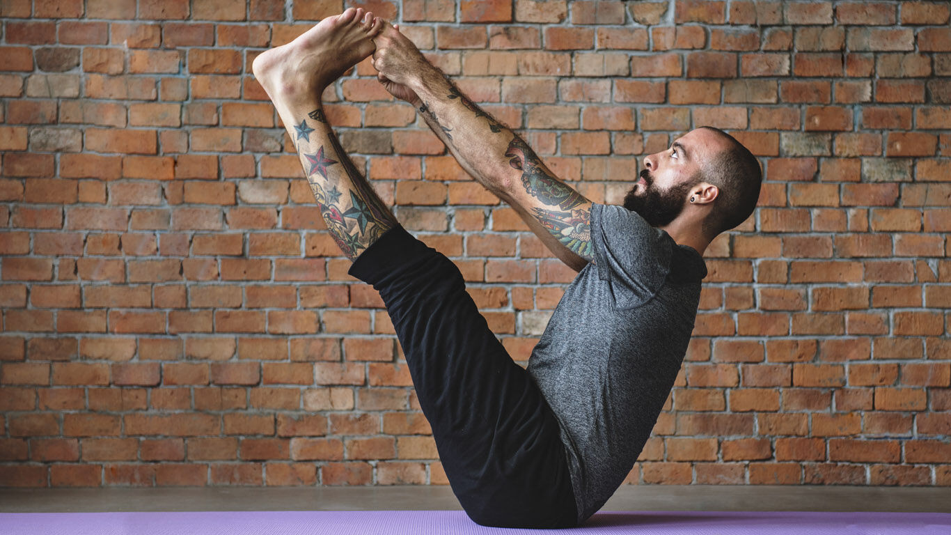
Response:
[{"label": "bearded tattooed man balancing in a seated V-shaped yoga pose", "polygon": [[[580,273],[528,370],[514,364],[455,265],[401,228],[359,175],[320,94],[371,53],[459,164]],[[747,219],[760,169],[717,129],[644,159],[624,207],[593,204],[479,109],[398,28],[361,9],[254,62],[350,273],[378,289],[419,405],[466,513],[482,525],[567,527],[604,505],[650,435],[687,350],[702,254]]]}]

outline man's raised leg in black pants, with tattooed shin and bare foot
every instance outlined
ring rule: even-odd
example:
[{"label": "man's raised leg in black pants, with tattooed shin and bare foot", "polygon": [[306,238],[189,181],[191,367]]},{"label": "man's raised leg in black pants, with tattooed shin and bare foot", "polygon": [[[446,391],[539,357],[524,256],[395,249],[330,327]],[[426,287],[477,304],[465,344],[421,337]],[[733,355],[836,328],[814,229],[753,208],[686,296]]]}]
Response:
[{"label": "man's raised leg in black pants, with tattooed shin and bare foot", "polygon": [[355,260],[350,273],[387,307],[463,508],[486,525],[574,525],[559,426],[540,390],[495,339],[458,268],[398,225],[320,111],[322,90],[373,51],[376,27],[361,15],[344,11],[264,52],[255,75],[295,140],[327,228]]}]

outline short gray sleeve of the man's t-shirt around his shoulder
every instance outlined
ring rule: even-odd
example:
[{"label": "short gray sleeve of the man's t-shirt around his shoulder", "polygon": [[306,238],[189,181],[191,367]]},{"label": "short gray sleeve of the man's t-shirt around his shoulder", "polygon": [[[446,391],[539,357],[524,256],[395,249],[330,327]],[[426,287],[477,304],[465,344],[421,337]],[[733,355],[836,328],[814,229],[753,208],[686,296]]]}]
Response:
[{"label": "short gray sleeve of the man's t-shirt around his shoulder", "polygon": [[609,282],[614,306],[639,307],[664,285],[670,270],[670,239],[636,212],[592,205],[592,246],[598,276]]}]

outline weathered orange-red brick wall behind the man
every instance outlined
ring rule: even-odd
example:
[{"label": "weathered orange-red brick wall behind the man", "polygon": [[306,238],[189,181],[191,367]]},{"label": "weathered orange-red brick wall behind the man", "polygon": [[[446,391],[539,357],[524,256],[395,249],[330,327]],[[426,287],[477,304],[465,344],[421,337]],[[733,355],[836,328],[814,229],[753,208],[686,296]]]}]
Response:
[{"label": "weathered orange-red brick wall behind the man", "polygon": [[[951,485],[947,2],[354,4],[594,201],[693,127],[760,157],[631,483]],[[444,484],[250,75],[342,2],[0,9],[0,485]],[[573,272],[368,64],[327,99],[524,364]]]}]

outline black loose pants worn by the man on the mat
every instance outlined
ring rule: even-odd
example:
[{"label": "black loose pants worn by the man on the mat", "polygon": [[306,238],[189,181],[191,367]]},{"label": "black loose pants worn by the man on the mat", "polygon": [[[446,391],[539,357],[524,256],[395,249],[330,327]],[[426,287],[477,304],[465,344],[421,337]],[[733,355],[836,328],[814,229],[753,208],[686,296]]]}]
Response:
[{"label": "black loose pants worn by the man on the mat", "polygon": [[577,524],[558,421],[465,291],[458,268],[403,228],[359,255],[350,274],[393,320],[462,508],[480,525]]}]

